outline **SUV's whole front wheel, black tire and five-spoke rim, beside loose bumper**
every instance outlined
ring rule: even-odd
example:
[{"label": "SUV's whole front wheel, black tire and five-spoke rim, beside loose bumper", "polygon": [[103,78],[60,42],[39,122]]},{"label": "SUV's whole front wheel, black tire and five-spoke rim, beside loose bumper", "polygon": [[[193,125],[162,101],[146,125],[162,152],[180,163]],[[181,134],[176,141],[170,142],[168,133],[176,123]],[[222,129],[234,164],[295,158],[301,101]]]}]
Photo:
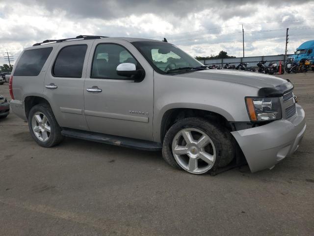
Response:
[{"label": "SUV's whole front wheel, black tire and five-spoke rim, beside loose bumper", "polygon": [[224,167],[234,153],[230,132],[204,118],[184,118],[173,124],[162,146],[162,156],[169,165],[192,174]]}]

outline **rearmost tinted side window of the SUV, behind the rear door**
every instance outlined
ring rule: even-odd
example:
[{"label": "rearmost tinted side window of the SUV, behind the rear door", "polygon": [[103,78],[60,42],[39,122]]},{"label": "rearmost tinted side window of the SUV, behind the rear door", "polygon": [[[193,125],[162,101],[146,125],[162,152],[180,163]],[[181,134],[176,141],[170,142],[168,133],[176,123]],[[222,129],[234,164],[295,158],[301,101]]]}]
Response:
[{"label": "rearmost tinted side window of the SUV, behind the rear door", "polygon": [[26,50],[16,65],[14,76],[37,76],[48,59],[51,48]]}]

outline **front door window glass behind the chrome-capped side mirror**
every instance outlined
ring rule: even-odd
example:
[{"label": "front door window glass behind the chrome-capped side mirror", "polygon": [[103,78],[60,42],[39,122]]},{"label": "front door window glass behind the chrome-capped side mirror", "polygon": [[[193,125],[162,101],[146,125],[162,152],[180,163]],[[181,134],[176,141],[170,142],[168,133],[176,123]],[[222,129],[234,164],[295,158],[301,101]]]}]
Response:
[{"label": "front door window glass behind the chrome-capped side mirror", "polygon": [[95,49],[91,78],[101,79],[130,79],[117,75],[117,66],[121,63],[138,62],[122,46],[116,44],[99,44]]}]

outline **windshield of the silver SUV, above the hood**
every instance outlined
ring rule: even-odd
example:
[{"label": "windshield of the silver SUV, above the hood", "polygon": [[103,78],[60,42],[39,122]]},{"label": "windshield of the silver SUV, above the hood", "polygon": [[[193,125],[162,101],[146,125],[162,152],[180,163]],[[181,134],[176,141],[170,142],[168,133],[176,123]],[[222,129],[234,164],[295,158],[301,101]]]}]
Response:
[{"label": "windshield of the silver SUV, above the hood", "polygon": [[[170,43],[140,41],[133,42],[132,44],[141,52],[154,69],[161,74],[165,74],[167,71],[175,71],[179,68],[204,66],[201,62]],[[188,71],[182,70],[181,72]]]}]

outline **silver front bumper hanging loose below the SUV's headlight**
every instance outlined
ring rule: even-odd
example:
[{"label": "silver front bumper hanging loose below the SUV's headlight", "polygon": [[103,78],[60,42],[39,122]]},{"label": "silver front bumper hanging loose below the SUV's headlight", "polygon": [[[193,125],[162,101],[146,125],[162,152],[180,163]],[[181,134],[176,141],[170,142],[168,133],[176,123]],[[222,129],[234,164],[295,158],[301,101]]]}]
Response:
[{"label": "silver front bumper hanging loose below the SUV's headlight", "polygon": [[298,147],[306,129],[305,113],[296,104],[296,115],[256,128],[231,132],[242,149],[251,172],[271,169]]}]

